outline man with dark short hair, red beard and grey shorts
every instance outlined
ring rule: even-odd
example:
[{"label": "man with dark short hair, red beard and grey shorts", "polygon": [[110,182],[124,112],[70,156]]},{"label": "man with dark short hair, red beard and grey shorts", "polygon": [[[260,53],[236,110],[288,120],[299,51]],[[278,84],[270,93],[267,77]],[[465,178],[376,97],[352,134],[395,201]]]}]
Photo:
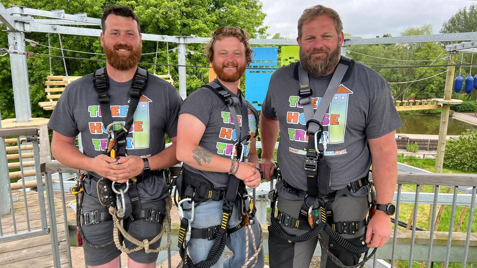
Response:
[{"label": "man with dark short hair, red beard and grey shorts", "polygon": [[[173,85],[137,67],[142,39],[133,10],[108,7],[101,22],[106,67],[66,86],[48,127],[53,130],[53,156],[63,165],[87,171],[77,187],[85,263],[112,268],[118,266],[123,247],[115,245],[108,206],[116,206],[114,216],[123,219],[124,228],[139,241],[152,240],[163,228],[169,200],[164,169],[178,163],[176,130],[182,100]],[[80,133],[83,152],[75,147]],[[166,133],[172,140],[167,148]],[[118,194],[115,199],[112,187],[124,197]],[[127,239],[124,244],[136,247]],[[128,267],[156,267],[158,253],[148,250],[159,245],[160,239],[147,251],[129,253]]]}]

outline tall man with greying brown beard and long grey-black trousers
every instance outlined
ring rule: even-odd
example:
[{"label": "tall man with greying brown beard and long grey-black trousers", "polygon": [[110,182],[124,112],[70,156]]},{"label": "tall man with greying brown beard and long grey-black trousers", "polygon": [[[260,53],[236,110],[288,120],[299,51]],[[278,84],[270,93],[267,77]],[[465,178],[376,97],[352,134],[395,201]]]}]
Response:
[{"label": "tall man with greying brown beard and long grey-black trousers", "polygon": [[[308,267],[319,238],[321,268],[352,266],[361,254],[348,251],[338,241],[342,239],[329,233],[363,250],[366,244],[382,247],[391,235],[397,179],[394,130],[402,124],[388,83],[367,66],[342,57],[343,40],[335,10],[321,5],[304,10],[298,21],[300,62],[280,67],[270,79],[260,116],[260,167],[269,180],[281,132],[272,201],[274,209],[278,199],[278,214],[271,215],[269,227],[271,268]],[[336,86],[330,86],[325,98],[331,81]],[[321,103],[324,99],[328,101]],[[311,117],[315,111],[325,111],[324,116],[311,120],[310,110]],[[319,135],[312,135],[311,123],[321,127]],[[371,164],[377,198],[371,198]],[[373,216],[368,216],[369,199],[376,206]],[[326,224],[332,231],[313,232]],[[306,239],[295,239],[299,236]]]}]

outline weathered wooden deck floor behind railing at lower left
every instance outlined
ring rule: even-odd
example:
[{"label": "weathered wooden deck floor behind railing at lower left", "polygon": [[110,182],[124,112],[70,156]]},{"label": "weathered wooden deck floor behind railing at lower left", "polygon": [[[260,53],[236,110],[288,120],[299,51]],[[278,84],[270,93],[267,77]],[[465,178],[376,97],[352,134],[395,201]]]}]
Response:
[{"label": "weathered wooden deck floor behind railing at lower left", "polygon": [[[23,193],[14,193],[18,201],[13,202],[17,233],[27,231],[27,215]],[[40,206],[38,193],[27,192],[28,216],[31,230],[41,229]],[[46,197],[46,193],[45,193]],[[47,200],[45,200],[47,204]],[[48,216],[48,206],[46,206]],[[56,223],[58,239],[60,241],[60,258],[62,267],[68,267],[66,251],[63,210],[60,198],[55,198]],[[3,235],[13,234],[13,220],[11,212],[1,217]],[[0,243],[0,267],[2,268],[46,268],[53,267],[52,241],[50,235],[41,235]]]}]

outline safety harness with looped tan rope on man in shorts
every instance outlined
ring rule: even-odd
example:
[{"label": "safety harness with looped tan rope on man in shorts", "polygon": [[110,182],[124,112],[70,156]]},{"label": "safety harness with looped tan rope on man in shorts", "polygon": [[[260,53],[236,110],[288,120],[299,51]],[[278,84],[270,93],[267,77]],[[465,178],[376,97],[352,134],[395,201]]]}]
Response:
[{"label": "safety harness with looped tan rope on man in shorts", "polygon": [[[127,116],[125,118],[124,124],[122,122],[113,122],[111,116],[111,108],[109,103],[109,78],[106,72],[106,67],[99,69],[93,74],[93,84],[94,90],[98,93],[98,100],[101,106],[102,121],[103,125],[106,126],[106,132],[108,133],[108,139],[106,143],[106,149],[104,150],[105,155],[109,155],[113,158],[119,159],[120,156],[127,156],[126,153],[126,136],[131,129],[131,125],[134,121],[134,113],[136,107],[139,103],[139,98],[142,96],[142,93],[147,88],[147,78],[149,73],[141,68],[137,68],[134,79],[129,90],[130,101]],[[117,164],[114,163],[114,164]],[[117,184],[107,178],[101,177],[97,183],[97,192],[99,202],[105,206],[104,211],[82,211],[83,203],[83,180],[85,176],[89,176],[93,179],[91,174],[80,175],[77,184],[73,186],[70,190],[73,195],[76,196],[76,203],[78,204],[76,209],[76,223],[77,223],[77,238],[78,245],[82,245],[83,241],[90,247],[105,247],[107,245],[115,244],[118,249],[124,253],[131,253],[141,249],[145,249],[146,253],[150,252],[159,252],[166,247],[169,247],[171,244],[170,239],[170,208],[172,206],[171,198],[168,196],[163,203],[159,205],[158,208],[147,208],[143,209],[141,201],[139,199],[139,192],[137,189],[137,184],[141,183],[144,179],[149,177],[149,175],[162,175],[166,180],[166,183],[169,185],[171,181],[171,175],[168,169],[163,169],[159,171],[153,171],[151,174],[143,174],[137,177],[132,177],[123,184]],[[130,216],[124,218],[126,211],[124,194],[129,192],[129,198],[131,201],[132,212]],[[115,197],[115,198],[114,198]],[[131,222],[145,219],[156,224],[162,224],[164,219],[166,219],[162,231],[156,235],[152,240],[144,239],[142,241],[132,237],[127,233],[127,229]],[[113,220],[114,229],[113,229],[113,241],[105,243],[103,245],[93,245],[89,243],[84,237],[82,226],[98,224],[100,221],[109,221]],[[125,226],[125,228],[124,228]],[[121,245],[121,239],[119,237],[119,232],[122,234],[124,239],[131,241],[137,247],[133,249],[124,248]],[[165,247],[157,247],[156,249],[149,248],[150,244],[157,242],[162,235],[166,233],[167,235],[167,245]]]}]

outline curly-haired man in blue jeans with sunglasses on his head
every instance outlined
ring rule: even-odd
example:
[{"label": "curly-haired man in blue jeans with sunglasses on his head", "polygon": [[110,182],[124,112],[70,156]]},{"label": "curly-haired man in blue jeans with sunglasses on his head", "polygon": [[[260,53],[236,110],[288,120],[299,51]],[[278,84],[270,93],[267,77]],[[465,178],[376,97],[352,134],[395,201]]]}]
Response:
[{"label": "curly-haired man in blue jeans with sunglasses on his head", "polygon": [[[261,180],[255,147],[258,113],[239,90],[252,58],[249,38],[238,27],[213,32],[205,50],[217,78],[190,94],[179,113],[176,156],[184,165],[176,187],[185,210],[181,229],[191,227],[190,241],[186,237],[180,251],[185,264],[264,266],[260,224],[245,187],[255,188]],[[187,221],[183,226],[186,218],[193,218],[190,226]],[[233,252],[226,259],[225,245]],[[208,256],[209,251],[215,255]]]}]

